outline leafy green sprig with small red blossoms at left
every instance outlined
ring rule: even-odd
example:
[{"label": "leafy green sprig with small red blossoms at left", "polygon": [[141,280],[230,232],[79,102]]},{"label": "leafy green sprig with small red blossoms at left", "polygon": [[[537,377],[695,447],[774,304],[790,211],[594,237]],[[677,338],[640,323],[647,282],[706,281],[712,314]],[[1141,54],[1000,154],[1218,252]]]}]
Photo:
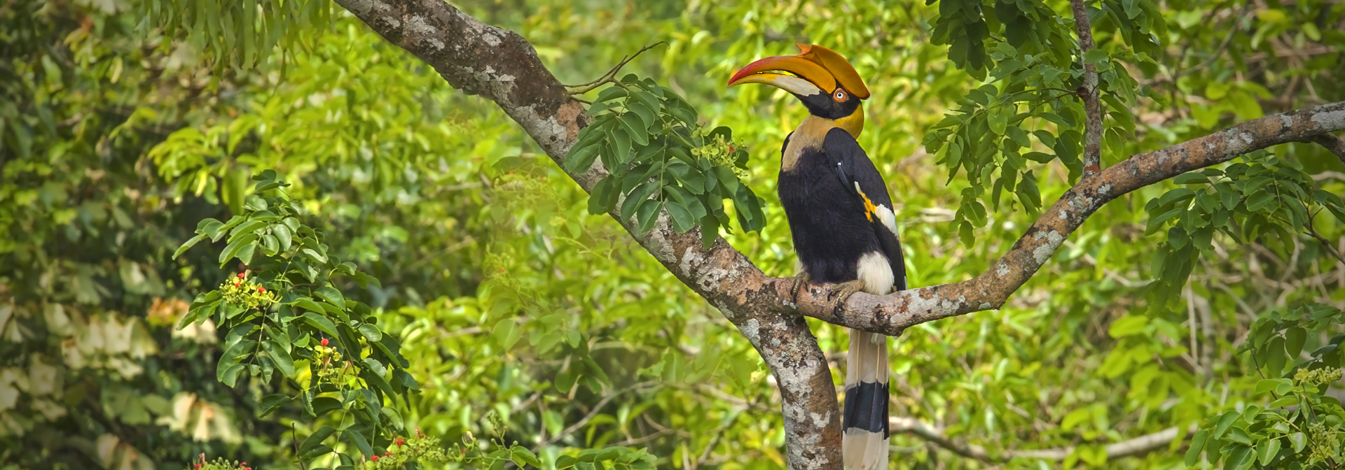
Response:
[{"label": "leafy green sprig with small red blossoms at left", "polygon": [[[301,461],[335,453],[348,466],[389,451],[405,431],[395,403],[420,385],[406,372],[401,342],[379,330],[373,309],[332,285],[336,278],[366,287],[379,282],[328,252],[323,234],[299,220],[297,201],[284,189],[289,184],[274,171],[253,180],[242,214],[200,220],[196,236],[178,248],[225,240],[221,267],[235,258],[246,265],[237,278],[196,295],[179,328],[207,318],[219,325],[226,340],[215,377],[225,385],[235,387],[242,376],[270,383],[273,375],[288,385],[277,388],[291,393],[262,397],[264,415],[291,403],[313,418],[342,415],[339,428],[323,427],[313,434],[321,438],[304,442]],[[328,436],[351,451],[323,444]]]}]

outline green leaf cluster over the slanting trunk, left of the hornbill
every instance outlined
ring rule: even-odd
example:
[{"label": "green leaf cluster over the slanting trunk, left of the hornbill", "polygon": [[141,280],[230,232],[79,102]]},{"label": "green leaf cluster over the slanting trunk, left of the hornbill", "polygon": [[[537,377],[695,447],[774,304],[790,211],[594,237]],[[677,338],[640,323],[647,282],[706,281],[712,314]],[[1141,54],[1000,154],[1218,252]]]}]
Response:
[{"label": "green leaf cluster over the slanting trunk, left of the hornbill", "polygon": [[599,93],[589,114],[593,122],[565,157],[570,172],[586,171],[603,158],[608,176],[593,187],[589,214],[616,211],[639,232],[654,227],[667,211],[678,232],[702,227],[709,247],[718,227],[728,227],[724,200],[737,208],[738,226],[765,226],[761,200],[740,181],[748,152],[733,145],[733,133],[720,126],[706,132],[697,111],[671,89],[628,74]]}]

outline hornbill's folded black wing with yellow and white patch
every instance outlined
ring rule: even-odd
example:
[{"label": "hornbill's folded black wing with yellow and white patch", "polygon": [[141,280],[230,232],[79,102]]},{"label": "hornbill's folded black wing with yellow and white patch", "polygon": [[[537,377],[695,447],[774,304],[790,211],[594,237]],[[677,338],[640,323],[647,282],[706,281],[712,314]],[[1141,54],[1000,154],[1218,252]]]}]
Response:
[{"label": "hornbill's folded black wing with yellow and white patch", "polygon": [[827,132],[822,142],[827,156],[835,161],[835,173],[841,183],[865,203],[873,232],[878,235],[878,246],[888,256],[896,290],[907,289],[907,263],[901,255],[901,240],[897,239],[896,215],[892,212],[892,196],[882,181],[878,168],[869,160],[859,142],[841,128]]}]

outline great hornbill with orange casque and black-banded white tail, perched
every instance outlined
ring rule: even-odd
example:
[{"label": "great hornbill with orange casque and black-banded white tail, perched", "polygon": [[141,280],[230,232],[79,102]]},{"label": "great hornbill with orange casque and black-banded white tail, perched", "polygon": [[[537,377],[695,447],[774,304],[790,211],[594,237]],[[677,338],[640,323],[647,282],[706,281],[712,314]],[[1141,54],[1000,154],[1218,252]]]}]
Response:
[{"label": "great hornbill with orange casque and black-banded white tail, perched", "polygon": [[[777,191],[806,282],[841,283],[838,302],[863,290],[907,289],[888,187],[855,141],[863,130],[859,74],[841,54],[798,44],[802,54],[742,67],[729,86],[765,83],[794,94],[810,115],[784,138]],[[888,467],[888,337],[850,329],[842,458],[846,470]]]}]

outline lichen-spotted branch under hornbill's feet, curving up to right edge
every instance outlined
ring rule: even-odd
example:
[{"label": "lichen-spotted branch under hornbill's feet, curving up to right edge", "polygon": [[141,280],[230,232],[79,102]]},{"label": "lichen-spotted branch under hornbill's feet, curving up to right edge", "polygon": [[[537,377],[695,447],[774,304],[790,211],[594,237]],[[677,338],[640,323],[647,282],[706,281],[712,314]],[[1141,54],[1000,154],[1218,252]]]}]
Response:
[{"label": "lichen-spotted branch under hornbill's feet, curving up to right edge", "polygon": [[[1161,150],[1141,153],[1079,181],[1050,205],[993,267],[971,281],[911,289],[889,295],[858,293],[845,312],[830,308],[831,286],[799,293],[808,317],[869,332],[901,334],[909,326],[972,312],[998,309],[1056,248],[1107,201],[1177,175],[1225,162],[1272,145],[1311,140],[1345,129],[1345,102],[1271,114]],[[776,282],[788,289],[788,279]]]}]

